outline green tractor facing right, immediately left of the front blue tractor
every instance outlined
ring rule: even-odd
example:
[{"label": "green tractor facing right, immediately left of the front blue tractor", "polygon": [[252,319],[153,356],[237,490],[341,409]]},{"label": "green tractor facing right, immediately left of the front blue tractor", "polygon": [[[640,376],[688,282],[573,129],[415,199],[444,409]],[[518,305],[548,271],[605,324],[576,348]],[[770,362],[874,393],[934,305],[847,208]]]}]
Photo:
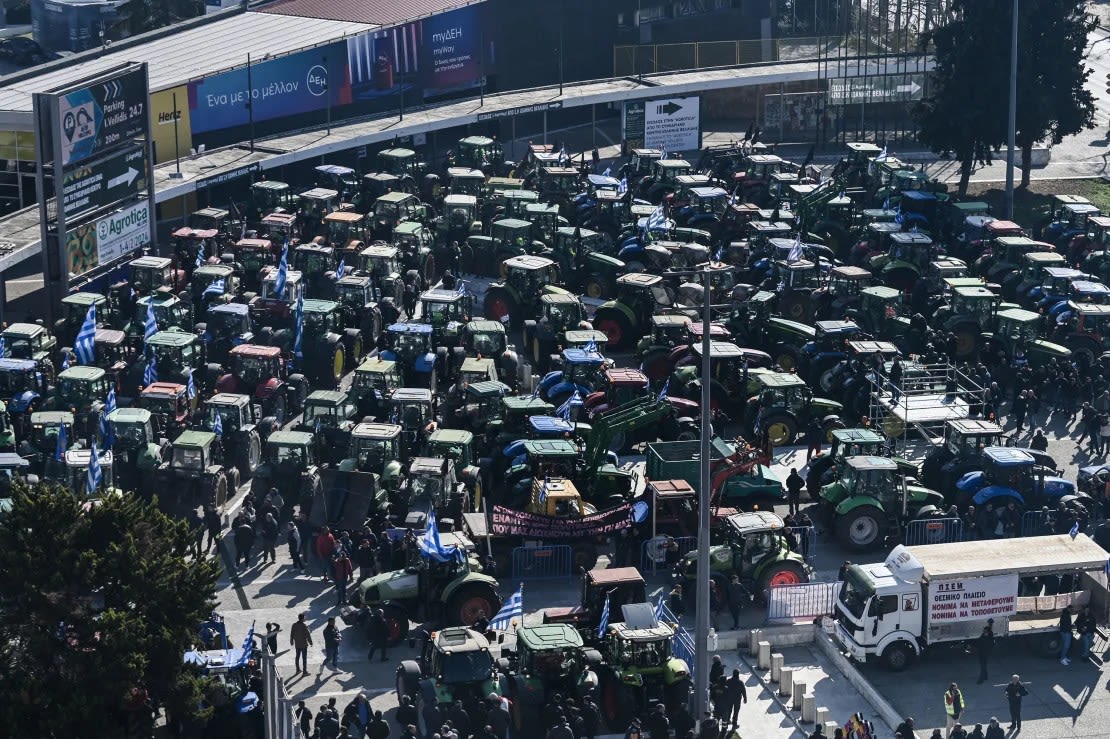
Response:
[{"label": "green tractor facing right, immediately left of the front blue tractor", "polygon": [[836,482],[821,487],[837,541],[850,551],[870,551],[888,538],[900,540],[906,522],[944,512],[945,496],[910,485],[887,457],[855,456],[837,465]]}]

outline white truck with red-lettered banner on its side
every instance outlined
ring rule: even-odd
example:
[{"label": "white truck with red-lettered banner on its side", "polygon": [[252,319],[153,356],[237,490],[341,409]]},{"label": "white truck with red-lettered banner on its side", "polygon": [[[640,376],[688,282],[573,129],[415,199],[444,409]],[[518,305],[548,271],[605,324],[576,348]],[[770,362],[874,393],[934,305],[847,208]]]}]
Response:
[{"label": "white truck with red-lettered banner on its side", "polygon": [[1090,605],[1104,619],[1108,556],[1086,534],[899,545],[881,564],[847,568],[834,639],[854,660],[897,671],[931,645],[978,637],[993,619],[996,636],[1056,654],[1064,606]]}]

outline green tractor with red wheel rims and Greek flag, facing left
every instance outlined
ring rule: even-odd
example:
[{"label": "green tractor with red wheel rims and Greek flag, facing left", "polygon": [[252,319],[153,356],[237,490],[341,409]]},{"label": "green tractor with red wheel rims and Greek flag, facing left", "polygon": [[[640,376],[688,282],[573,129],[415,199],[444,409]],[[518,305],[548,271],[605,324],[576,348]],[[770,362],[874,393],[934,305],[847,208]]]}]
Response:
[{"label": "green tractor with red wheel rims and Greek flag, facing left", "polygon": [[412,618],[435,618],[445,626],[470,626],[483,614],[501,610],[497,580],[482,574],[474,545],[457,533],[441,533],[443,547],[460,556],[440,561],[413,553],[405,569],[367,577],[351,597],[354,607],[385,611],[387,642],[396,646],[408,636]]}]

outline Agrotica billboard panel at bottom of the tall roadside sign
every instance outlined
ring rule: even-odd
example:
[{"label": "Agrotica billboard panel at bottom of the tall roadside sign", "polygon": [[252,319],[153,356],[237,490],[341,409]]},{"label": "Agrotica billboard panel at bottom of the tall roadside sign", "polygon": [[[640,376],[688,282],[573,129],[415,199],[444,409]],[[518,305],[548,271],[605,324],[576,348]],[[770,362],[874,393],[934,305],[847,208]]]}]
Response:
[{"label": "Agrotica billboard panel at bottom of the tall roadside sign", "polygon": [[141,200],[65,232],[62,252],[70,279],[151,243],[149,201]]}]

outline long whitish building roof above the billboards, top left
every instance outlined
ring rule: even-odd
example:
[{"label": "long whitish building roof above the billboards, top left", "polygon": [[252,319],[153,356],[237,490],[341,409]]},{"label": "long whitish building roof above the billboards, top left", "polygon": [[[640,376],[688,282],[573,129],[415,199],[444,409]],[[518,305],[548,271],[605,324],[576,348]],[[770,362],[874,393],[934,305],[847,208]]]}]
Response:
[{"label": "long whitish building roof above the billboards, top left", "polygon": [[[396,3],[397,12],[404,12],[411,3],[412,0]],[[359,16],[353,7],[347,14]],[[376,24],[356,18],[336,20],[291,16],[234,13],[210,23],[191,24],[175,33],[158,34],[147,42],[121,43],[119,49],[108,53],[95,49],[67,57],[65,63],[44,69],[41,74],[9,83],[0,79],[0,111],[30,114],[31,93],[62,87],[128,62],[147,62],[150,65],[150,89],[157,91],[245,65],[248,49],[244,39],[265,50],[252,55],[262,61],[266,54],[278,57],[376,28]],[[27,122],[30,123],[30,119]]]}]

